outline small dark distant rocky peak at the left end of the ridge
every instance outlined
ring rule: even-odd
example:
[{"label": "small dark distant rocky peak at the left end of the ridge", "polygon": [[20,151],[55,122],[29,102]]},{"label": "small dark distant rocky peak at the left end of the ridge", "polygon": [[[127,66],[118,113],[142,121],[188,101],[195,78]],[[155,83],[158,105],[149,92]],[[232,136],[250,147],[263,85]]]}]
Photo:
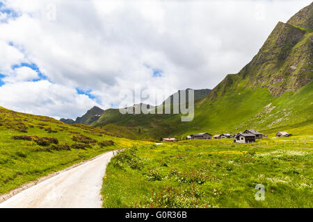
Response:
[{"label": "small dark distant rocky peak at the left end of the ridge", "polygon": [[60,119],[60,121],[63,121],[63,123],[67,124],[79,123],[90,125],[91,123],[97,121],[103,112],[104,110],[97,106],[94,106],[93,108],[88,110],[85,114],[83,114],[82,117],[77,117],[75,121],[73,119]]}]

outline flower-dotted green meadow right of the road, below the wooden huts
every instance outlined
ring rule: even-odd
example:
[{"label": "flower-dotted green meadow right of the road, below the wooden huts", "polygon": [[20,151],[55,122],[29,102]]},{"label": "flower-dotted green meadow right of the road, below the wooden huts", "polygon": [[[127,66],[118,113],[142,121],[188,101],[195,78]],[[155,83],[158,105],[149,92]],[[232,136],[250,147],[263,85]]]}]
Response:
[{"label": "flower-dotted green meadow right of the road, below the wooden huts", "polygon": [[134,146],[109,163],[103,207],[313,207],[312,137],[285,139]]}]

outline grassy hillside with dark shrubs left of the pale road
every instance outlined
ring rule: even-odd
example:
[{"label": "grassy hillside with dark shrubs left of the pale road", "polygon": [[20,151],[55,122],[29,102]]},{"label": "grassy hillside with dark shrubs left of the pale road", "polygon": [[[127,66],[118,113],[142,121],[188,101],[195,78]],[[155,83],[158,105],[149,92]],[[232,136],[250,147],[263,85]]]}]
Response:
[{"label": "grassy hillside with dark shrubs left of the pale road", "polygon": [[0,194],[106,151],[145,142],[0,107]]}]

